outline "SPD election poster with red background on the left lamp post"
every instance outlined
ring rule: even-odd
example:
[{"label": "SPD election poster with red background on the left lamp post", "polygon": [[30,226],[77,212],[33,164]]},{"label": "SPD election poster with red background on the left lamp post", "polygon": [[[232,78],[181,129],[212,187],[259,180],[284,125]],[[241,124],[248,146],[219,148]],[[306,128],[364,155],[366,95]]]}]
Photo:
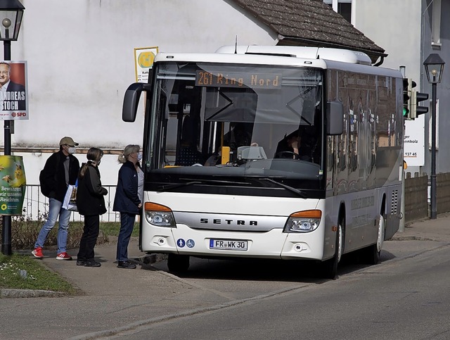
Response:
[{"label": "SPD election poster with red background on the left lamp post", "polygon": [[0,119],[28,119],[27,62],[0,61]]}]

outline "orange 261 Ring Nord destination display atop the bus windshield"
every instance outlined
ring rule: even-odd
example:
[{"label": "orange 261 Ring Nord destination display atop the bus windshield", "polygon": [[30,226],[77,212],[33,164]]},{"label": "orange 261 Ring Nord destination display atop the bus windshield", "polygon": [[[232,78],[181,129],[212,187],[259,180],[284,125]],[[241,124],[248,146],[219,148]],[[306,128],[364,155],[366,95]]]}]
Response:
[{"label": "orange 261 Ring Nord destination display atop the bus windshield", "polygon": [[195,86],[203,87],[251,87],[253,89],[279,89],[281,75],[276,73],[210,73],[197,70]]}]

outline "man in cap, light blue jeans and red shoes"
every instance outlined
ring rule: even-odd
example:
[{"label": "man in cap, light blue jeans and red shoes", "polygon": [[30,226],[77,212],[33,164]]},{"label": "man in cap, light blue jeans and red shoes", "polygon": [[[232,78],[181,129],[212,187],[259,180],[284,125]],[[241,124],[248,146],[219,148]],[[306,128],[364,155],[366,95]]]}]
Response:
[{"label": "man in cap, light blue jeans and red shoes", "polygon": [[63,201],[68,185],[75,185],[77,182],[79,161],[73,156],[73,153],[77,151],[75,146],[78,146],[78,143],[72,137],[63,137],[59,142],[59,151],[47,159],[44,169],[39,174],[41,192],[49,198],[49,217],[41,227],[34,244],[32,254],[35,258],[44,258],[42,248],[59,216],[56,260],[72,260],[72,256],[66,251],[71,211],[63,208]]}]

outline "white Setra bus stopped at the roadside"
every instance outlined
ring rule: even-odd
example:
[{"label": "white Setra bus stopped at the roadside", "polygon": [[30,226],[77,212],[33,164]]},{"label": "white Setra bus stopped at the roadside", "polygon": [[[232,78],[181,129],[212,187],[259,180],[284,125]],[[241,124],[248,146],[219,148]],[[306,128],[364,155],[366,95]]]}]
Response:
[{"label": "white Setra bus stopped at the roadside", "polygon": [[189,258],[378,263],[401,218],[403,82],[364,53],[224,46],[158,53],[146,92],[140,248]]}]

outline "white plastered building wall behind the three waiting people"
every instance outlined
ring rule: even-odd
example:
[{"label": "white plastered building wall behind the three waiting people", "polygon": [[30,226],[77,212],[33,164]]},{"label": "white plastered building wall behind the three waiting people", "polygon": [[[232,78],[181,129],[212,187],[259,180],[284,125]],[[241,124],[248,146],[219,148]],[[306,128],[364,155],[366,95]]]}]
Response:
[{"label": "white plastered building wall behind the three waiting people", "polygon": [[[122,122],[124,92],[135,82],[134,48],[214,52],[234,44],[276,44],[276,34],[229,0],[21,0],[25,6],[11,59],[28,61],[30,119],[15,121],[12,149],[142,144],[142,119]],[[2,46],[3,48],[3,46]],[[1,142],[4,136],[1,129]],[[13,152],[14,153],[14,152]],[[50,153],[24,156],[28,184],[38,184]],[[80,163],[85,155],[77,155]],[[103,184],[117,181],[117,155],[101,165]]]}]

